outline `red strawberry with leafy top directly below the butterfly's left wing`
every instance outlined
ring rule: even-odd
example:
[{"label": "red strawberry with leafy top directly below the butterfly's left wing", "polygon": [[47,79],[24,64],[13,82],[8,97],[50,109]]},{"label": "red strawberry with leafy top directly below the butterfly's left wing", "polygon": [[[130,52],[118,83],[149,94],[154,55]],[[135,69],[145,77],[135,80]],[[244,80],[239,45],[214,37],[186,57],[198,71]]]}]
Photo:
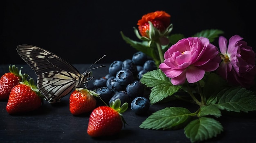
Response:
[{"label": "red strawberry with leafy top directly below the butterfly's left wing", "polygon": [[42,95],[34,85],[32,78],[27,81],[28,75],[22,75],[22,82],[13,89],[7,102],[6,111],[9,114],[34,111],[42,105]]}]

